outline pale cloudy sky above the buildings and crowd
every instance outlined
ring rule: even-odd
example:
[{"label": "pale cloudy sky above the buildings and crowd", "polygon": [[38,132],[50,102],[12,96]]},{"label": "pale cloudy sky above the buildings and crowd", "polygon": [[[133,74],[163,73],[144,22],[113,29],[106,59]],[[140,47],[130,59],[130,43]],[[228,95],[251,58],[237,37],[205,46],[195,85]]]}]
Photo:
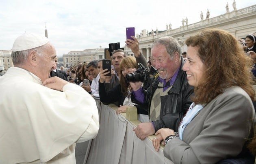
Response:
[{"label": "pale cloudy sky above the buildings and crowd", "polygon": [[[124,47],[126,27],[166,30],[200,21],[201,11],[210,18],[233,11],[233,0],[0,0],[0,50],[11,50],[14,40],[24,32],[44,36],[55,46],[56,54],[69,51],[108,48],[120,42]],[[236,0],[236,8],[255,5],[255,0]]]}]

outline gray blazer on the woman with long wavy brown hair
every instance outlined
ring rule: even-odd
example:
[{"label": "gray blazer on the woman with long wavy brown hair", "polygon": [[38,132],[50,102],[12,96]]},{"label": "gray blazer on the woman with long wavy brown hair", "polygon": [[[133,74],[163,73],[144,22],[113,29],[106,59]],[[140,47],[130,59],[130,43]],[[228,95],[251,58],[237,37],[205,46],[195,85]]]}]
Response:
[{"label": "gray blazer on the woman with long wavy brown hair", "polygon": [[241,87],[230,87],[206,104],[184,129],[171,139],[164,155],[175,164],[214,164],[236,157],[254,134],[255,111]]}]

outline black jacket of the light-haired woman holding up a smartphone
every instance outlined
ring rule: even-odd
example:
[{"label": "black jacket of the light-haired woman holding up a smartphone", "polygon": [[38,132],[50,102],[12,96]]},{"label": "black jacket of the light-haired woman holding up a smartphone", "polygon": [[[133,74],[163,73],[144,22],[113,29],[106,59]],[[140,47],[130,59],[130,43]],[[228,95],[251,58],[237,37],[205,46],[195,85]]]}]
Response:
[{"label": "black jacket of the light-haired woman holding up a smartphone", "polygon": [[[104,102],[105,104],[110,104],[118,101],[118,106],[123,105],[124,99],[126,98],[126,96],[121,92],[121,84],[118,84],[113,89],[106,91],[104,83],[99,83],[99,94],[101,102]],[[140,106],[135,106],[137,107],[138,114],[148,114],[148,112],[144,109],[141,109]]]}]

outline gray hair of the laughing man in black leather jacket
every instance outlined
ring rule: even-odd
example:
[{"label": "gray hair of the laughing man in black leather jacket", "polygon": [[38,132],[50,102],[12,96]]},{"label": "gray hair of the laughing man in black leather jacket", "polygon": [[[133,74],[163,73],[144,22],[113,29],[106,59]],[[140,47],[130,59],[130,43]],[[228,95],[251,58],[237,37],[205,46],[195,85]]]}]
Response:
[{"label": "gray hair of the laughing man in black leather jacket", "polygon": [[179,55],[181,56],[181,46],[178,43],[178,40],[173,38],[172,36],[164,36],[152,44],[152,48],[157,45],[163,45],[166,48],[167,53],[169,53],[171,60],[174,59],[174,53],[178,52]]}]

